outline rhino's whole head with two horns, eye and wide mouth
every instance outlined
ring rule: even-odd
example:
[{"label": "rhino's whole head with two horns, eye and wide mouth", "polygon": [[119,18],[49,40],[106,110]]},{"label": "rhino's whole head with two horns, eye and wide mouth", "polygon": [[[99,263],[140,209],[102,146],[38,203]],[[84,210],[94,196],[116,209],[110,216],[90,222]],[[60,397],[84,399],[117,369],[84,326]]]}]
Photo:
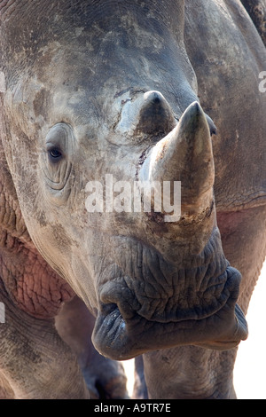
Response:
[{"label": "rhino's whole head with two horns, eye and wide mouth", "polygon": [[[3,102],[35,247],[94,312],[103,355],[231,349],[246,338],[241,277],[215,221],[215,125],[184,49],[184,2],[58,2],[33,20],[39,3],[6,20]],[[138,183],[168,185],[173,212],[155,192],[134,210]]]}]

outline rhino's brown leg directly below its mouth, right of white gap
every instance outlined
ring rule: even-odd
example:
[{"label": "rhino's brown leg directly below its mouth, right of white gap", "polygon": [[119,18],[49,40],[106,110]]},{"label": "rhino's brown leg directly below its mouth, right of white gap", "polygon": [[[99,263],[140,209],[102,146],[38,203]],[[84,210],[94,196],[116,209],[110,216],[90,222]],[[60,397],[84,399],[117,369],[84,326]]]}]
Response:
[{"label": "rhino's brown leg directly below its mouth, right of white gap", "polygon": [[145,353],[149,398],[235,399],[232,373],[236,353],[237,348],[218,351],[196,346]]}]

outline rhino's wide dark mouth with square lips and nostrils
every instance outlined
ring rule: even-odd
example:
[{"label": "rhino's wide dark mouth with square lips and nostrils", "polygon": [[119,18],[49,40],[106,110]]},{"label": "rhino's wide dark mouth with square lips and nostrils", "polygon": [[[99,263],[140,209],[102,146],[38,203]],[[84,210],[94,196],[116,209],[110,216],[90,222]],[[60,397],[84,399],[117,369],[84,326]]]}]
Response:
[{"label": "rhino's wide dark mouth with square lips and nostrils", "polygon": [[[247,337],[246,319],[236,300],[239,271],[227,268],[219,305],[194,317],[181,311],[175,317],[145,317],[137,310],[136,296],[127,285],[111,282],[103,288],[100,309],[92,336],[96,349],[105,357],[127,360],[150,350],[197,345],[229,350]],[[130,294],[129,294],[130,293]],[[114,296],[114,294],[116,296]],[[113,302],[111,302],[113,300]]]}]

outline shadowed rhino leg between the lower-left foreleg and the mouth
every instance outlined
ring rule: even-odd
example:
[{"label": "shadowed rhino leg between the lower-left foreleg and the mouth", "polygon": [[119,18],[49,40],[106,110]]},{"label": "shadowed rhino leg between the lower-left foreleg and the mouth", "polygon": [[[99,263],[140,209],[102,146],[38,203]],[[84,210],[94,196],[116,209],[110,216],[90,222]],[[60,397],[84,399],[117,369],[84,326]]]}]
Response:
[{"label": "shadowed rhino leg between the lower-left foreleg and the mouth", "polygon": [[95,319],[77,296],[64,307],[56,318],[62,339],[78,358],[91,398],[129,398],[127,378],[121,363],[104,358],[91,342]]}]

